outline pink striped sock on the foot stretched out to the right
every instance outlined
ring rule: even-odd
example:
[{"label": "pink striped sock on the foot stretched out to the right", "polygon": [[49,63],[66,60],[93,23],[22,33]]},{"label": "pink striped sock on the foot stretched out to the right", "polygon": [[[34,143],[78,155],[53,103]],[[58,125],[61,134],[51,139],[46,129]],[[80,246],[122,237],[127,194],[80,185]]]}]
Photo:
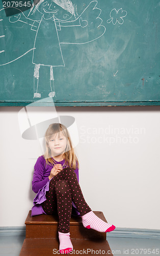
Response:
[{"label": "pink striped sock on the foot stretched out to the right", "polygon": [[99,232],[111,232],[116,227],[99,219],[93,211],[82,216],[82,223],[86,228],[92,228]]}]

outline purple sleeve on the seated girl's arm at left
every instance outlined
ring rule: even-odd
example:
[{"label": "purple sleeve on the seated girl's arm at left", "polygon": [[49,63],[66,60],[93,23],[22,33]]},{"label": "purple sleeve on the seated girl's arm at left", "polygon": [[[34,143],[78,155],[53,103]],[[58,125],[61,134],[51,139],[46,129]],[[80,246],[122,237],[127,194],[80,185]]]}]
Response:
[{"label": "purple sleeve on the seated girl's arm at left", "polygon": [[44,185],[49,180],[48,177],[43,179],[43,174],[44,174],[44,161],[42,157],[39,157],[34,166],[34,174],[33,174],[33,181],[32,181],[32,190],[35,193],[38,193],[39,189],[44,187]]}]

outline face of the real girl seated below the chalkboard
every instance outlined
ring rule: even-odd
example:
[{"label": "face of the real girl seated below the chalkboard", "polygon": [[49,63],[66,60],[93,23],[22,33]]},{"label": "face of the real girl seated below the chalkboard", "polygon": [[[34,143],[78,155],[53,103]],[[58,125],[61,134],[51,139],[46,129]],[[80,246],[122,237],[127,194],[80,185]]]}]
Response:
[{"label": "face of the real girl seated below the chalkboard", "polygon": [[62,132],[59,132],[49,139],[48,146],[50,148],[52,157],[59,155],[63,156],[67,146],[67,139]]}]

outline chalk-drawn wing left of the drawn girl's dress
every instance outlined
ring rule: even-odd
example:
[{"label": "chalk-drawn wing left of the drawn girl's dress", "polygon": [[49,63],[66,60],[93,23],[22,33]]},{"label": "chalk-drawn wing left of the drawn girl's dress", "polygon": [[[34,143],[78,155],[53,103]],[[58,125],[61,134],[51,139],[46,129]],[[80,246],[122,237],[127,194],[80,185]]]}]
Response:
[{"label": "chalk-drawn wing left of the drawn girl's dress", "polygon": [[[23,17],[22,12],[6,17],[5,9],[0,10],[0,66],[8,65],[33,51],[36,34],[33,31],[36,27],[34,22]],[[29,25],[35,27],[28,29]]]}]

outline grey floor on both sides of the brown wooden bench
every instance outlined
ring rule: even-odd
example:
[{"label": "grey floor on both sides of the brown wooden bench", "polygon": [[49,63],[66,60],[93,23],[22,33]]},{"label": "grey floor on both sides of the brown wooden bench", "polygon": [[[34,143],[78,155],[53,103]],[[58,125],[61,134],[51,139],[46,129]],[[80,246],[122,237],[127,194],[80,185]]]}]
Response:
[{"label": "grey floor on both sides of the brown wooden bench", "polygon": [[[23,236],[0,237],[0,255],[18,256],[20,253],[24,238],[25,237]],[[121,256],[126,256],[126,255],[156,256],[158,255],[159,256],[160,255],[160,240],[158,239],[110,237],[108,238],[108,242],[114,256],[116,255],[121,255]],[[38,256],[38,255],[35,255],[35,256]]]}]

